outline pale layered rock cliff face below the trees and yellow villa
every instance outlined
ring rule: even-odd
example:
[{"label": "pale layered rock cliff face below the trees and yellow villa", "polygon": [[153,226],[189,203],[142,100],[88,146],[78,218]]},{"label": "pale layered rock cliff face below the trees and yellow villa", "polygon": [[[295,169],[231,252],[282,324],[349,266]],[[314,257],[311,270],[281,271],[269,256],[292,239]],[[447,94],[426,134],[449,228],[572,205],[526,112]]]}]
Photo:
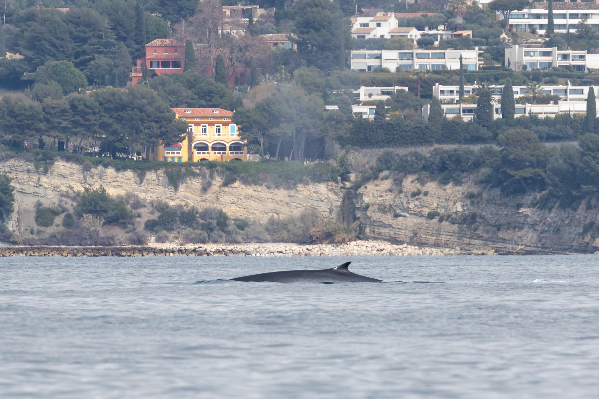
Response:
[{"label": "pale layered rock cliff face below the trees and yellow villa", "polygon": [[[72,206],[74,194],[86,187],[104,186],[111,195],[132,193],[142,201],[164,200],[170,204],[198,208],[222,208],[233,217],[257,219],[297,216],[312,209],[322,214],[338,210],[344,189],[335,183],[301,185],[296,189],[266,186],[223,186],[215,178],[205,192],[201,176],[187,177],[176,192],[164,171],[145,176],[113,168],[93,168],[84,173],[80,165],[57,161],[47,174],[35,171],[30,163],[11,160],[0,163],[0,171],[10,174],[16,188],[15,212],[8,222],[16,234],[35,226],[35,203]],[[420,189],[422,194],[412,197]],[[356,217],[362,238],[386,240],[395,244],[432,247],[460,247],[468,250],[495,250],[498,253],[595,252],[599,240],[582,234],[583,225],[598,220],[597,206],[586,210],[530,207],[533,196],[502,198],[496,190],[473,183],[462,186],[420,185],[414,177],[397,187],[392,179],[369,182],[356,194]],[[424,192],[428,191],[428,195]],[[476,194],[476,195],[475,195]],[[474,198],[472,198],[474,197]],[[597,204],[593,204],[597,205]],[[428,219],[429,212],[450,214],[449,222]],[[430,214],[434,216],[435,214]],[[56,223],[60,220],[57,219]],[[599,226],[599,222],[597,222]]]}]

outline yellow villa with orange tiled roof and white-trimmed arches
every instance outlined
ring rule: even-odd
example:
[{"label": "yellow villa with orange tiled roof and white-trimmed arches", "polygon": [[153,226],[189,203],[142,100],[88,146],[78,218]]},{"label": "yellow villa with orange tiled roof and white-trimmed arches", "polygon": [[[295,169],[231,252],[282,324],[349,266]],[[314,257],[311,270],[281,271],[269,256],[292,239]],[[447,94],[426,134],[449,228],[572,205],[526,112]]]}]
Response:
[{"label": "yellow villa with orange tiled roof and white-trimmed arches", "polygon": [[[192,138],[192,161],[247,161],[247,143],[239,138],[239,128],[232,122],[233,113],[222,108],[173,108],[179,119],[187,122]],[[189,143],[181,137],[168,146],[148,146],[142,150],[150,161],[187,162]]]}]

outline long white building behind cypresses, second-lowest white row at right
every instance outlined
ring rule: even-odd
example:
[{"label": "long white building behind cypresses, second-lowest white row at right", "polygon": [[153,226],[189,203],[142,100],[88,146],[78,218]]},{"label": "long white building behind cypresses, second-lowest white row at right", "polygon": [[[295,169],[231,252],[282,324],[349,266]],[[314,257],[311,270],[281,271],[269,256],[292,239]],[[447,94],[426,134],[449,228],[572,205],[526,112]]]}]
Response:
[{"label": "long white building behind cypresses, second-lowest white row at right", "polygon": [[[474,84],[464,85],[464,96],[473,93],[473,90],[475,90],[476,87],[476,82]],[[571,84],[543,84],[540,93],[544,95],[559,96],[562,101],[586,101],[589,89],[589,86],[572,86]],[[528,90],[526,86],[513,86],[512,90],[514,92],[514,98],[516,99],[530,93],[530,90]],[[599,87],[594,87],[594,91],[595,96],[599,96]],[[502,92],[502,85],[491,86],[491,93],[495,99],[500,99]],[[455,103],[459,99],[459,85],[437,83],[432,87],[432,96],[438,98],[442,104]]]}]

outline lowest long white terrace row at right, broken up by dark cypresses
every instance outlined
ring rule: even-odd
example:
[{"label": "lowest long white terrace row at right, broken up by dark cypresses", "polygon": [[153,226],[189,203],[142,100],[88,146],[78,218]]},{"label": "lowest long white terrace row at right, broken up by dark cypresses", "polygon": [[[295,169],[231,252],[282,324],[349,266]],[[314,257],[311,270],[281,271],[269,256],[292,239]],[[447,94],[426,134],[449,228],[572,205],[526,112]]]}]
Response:
[{"label": "lowest long white terrace row at right, broken up by dark cypresses", "polygon": [[[461,117],[466,121],[474,119],[476,113],[476,104],[441,104],[441,108],[445,117]],[[501,105],[494,104],[494,108],[494,119],[501,119]],[[422,107],[422,117],[427,122],[430,111],[430,104],[425,104]],[[586,101],[555,101],[555,104],[536,105],[516,104],[515,117],[533,114],[538,117],[555,117],[558,114],[586,114]]]}]

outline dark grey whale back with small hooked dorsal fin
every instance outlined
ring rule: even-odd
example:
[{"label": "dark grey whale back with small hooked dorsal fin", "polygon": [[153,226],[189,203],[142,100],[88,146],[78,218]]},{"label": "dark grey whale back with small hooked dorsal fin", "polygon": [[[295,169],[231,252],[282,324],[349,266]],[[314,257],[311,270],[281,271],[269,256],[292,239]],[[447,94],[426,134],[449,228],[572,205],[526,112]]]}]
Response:
[{"label": "dark grey whale back with small hooked dorsal fin", "polygon": [[380,283],[383,281],[352,273],[347,269],[350,263],[352,262],[345,262],[332,269],[271,271],[231,280],[272,283]]}]

